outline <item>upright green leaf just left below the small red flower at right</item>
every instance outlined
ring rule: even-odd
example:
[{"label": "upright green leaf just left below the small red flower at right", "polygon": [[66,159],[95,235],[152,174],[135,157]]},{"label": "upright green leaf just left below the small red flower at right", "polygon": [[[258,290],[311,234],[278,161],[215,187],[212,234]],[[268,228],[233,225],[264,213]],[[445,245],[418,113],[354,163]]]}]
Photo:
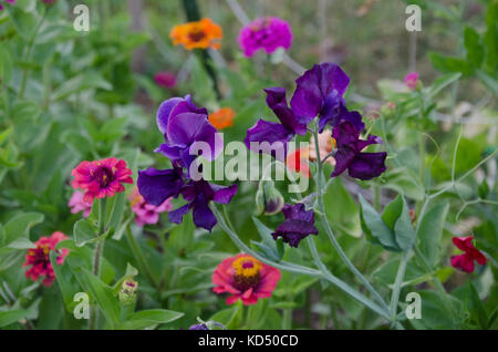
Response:
[{"label": "upright green leaf just left below the small red flower at right", "polygon": [[423,218],[419,219],[421,224],[417,231],[418,248],[430,267],[434,267],[437,261],[448,209],[449,204],[447,201],[436,203],[429,206]]}]

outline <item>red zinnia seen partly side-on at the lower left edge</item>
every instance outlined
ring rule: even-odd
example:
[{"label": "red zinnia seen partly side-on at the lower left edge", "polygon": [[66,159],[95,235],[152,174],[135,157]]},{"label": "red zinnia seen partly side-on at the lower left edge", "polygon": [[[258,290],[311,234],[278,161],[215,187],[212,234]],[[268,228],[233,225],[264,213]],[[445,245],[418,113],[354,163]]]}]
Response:
[{"label": "red zinnia seen partly side-on at the lower left edge", "polygon": [[[51,286],[55,279],[55,275],[53,272],[52,263],[50,262],[50,251],[55,250],[55,245],[66,238],[68,236],[56,231],[53,232],[52,236],[41,237],[34,242],[37,248],[28,249],[25,261],[22,265],[23,267],[31,266],[31,268],[25,271],[25,277],[33,281],[38,281],[40,277],[44,277],[42,284],[46,287]],[[59,250],[58,253],[59,257],[56,258],[56,262],[59,266],[62,266],[65,256],[69,253],[69,249],[63,248]]]}]

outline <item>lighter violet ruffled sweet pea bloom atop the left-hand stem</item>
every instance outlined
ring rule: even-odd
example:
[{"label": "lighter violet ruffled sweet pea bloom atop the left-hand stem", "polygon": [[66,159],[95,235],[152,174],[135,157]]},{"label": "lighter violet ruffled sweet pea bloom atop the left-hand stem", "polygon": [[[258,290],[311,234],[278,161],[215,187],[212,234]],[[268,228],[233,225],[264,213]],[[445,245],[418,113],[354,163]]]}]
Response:
[{"label": "lighter violet ruffled sweet pea bloom atop the left-hand stem", "polygon": [[196,143],[204,142],[210,148],[210,154],[204,155],[208,161],[215,159],[222,145],[217,130],[208,121],[208,112],[204,107],[197,107],[185,97],[170,97],[163,102],[157,111],[157,126],[164,134],[163,143],[155,152],[164,154],[172,162],[188,167],[196,158],[190,151]]}]

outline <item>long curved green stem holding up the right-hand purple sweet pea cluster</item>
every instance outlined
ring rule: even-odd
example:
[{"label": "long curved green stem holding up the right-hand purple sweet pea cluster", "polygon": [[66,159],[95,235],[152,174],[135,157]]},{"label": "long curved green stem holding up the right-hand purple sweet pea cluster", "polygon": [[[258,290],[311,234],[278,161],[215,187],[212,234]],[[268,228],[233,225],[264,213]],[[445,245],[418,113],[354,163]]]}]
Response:
[{"label": "long curved green stem holding up the right-hand purple sweet pea cluster", "polygon": [[[319,145],[319,132],[318,126],[313,130],[314,135],[314,147],[317,151],[320,151]],[[317,152],[318,153],[318,152]],[[326,235],[330,238],[330,241],[334,246],[335,250],[339,252],[339,256],[341,257],[342,261],[347,266],[347,268],[356,276],[356,278],[365,286],[365,288],[375,297],[375,299],[381,303],[382,308],[390,312],[390,308],[384,302],[383,298],[378,292],[370,284],[369,280],[356,269],[356,267],[351,262],[351,260],[347,258],[347,256],[342,250],[341,245],[336,240],[332,228],[329,224],[329,220],[325,216],[325,206],[323,204],[323,189],[322,189],[322,161],[320,158],[317,158],[317,174],[314,175],[317,180],[317,193],[318,193],[318,205],[319,205],[319,216],[322,222],[323,228],[325,229]]]}]

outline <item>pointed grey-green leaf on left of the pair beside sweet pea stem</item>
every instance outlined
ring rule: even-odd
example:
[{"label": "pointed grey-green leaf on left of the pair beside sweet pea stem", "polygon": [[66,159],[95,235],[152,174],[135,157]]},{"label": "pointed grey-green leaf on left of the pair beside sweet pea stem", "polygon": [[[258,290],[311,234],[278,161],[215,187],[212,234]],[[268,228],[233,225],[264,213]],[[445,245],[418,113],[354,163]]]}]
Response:
[{"label": "pointed grey-green leaf on left of the pair beside sweet pea stem", "polygon": [[401,251],[394,239],[394,232],[385,225],[377,211],[372,208],[362,195],[359,196],[359,199],[362,228],[367,239],[375,245],[381,245],[387,250]]}]

